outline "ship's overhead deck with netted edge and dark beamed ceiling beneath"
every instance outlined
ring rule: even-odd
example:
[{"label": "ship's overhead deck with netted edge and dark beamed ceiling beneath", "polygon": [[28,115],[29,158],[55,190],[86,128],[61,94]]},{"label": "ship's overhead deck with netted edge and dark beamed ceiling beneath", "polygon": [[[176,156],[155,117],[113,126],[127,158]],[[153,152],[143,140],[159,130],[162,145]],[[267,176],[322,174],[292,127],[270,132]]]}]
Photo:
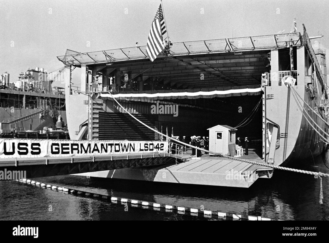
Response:
[{"label": "ship's overhead deck with netted edge and dark beamed ceiling beneath", "polygon": [[164,89],[239,86],[255,84],[269,71],[267,53],[290,43],[300,46],[300,33],[175,42],[168,46],[168,55],[160,54],[154,62],[149,61],[146,46],[75,52],[58,59],[76,67],[120,68],[131,74],[130,78],[142,72],[144,80],[157,78]]}]

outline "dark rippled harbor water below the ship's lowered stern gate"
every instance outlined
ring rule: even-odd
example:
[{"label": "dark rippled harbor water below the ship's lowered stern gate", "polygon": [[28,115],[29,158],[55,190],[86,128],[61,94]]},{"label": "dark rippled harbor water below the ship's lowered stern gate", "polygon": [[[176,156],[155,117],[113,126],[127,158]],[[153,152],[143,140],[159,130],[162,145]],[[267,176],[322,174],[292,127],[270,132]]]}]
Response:
[{"label": "dark rippled harbor water below the ship's lowered stern gate", "polygon": [[[325,159],[328,161],[329,154]],[[310,163],[307,163],[310,162]],[[327,162],[327,165],[329,163]],[[290,165],[291,166],[291,165]],[[321,157],[293,166],[328,173]],[[226,188],[139,182],[116,179],[56,176],[36,178],[52,185],[109,196],[146,200],[168,205],[244,213],[284,220],[329,220],[328,178],[276,170],[271,179],[258,179],[250,188]],[[50,207],[51,206],[51,207]],[[51,209],[51,210],[50,210]],[[2,220],[204,220],[200,217],[145,210],[112,204],[13,181],[0,182]]]}]

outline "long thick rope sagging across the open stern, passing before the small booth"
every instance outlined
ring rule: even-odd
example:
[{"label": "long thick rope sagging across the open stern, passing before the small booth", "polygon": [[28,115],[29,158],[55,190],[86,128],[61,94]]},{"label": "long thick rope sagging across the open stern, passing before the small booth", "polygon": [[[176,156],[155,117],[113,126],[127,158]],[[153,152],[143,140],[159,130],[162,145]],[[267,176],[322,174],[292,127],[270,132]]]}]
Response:
[{"label": "long thick rope sagging across the open stern, passing before the small booth", "polygon": [[282,166],[277,166],[277,165],[270,165],[270,164],[265,164],[265,163],[261,163],[261,162],[256,162],[256,161],[250,161],[250,160],[245,160],[245,159],[240,159],[240,158],[235,158],[235,157],[231,157],[231,156],[227,156],[227,155],[222,155],[222,154],[219,154],[219,153],[215,153],[215,152],[212,152],[212,151],[209,151],[209,150],[205,150],[205,149],[202,149],[202,148],[199,148],[199,147],[195,147],[195,146],[192,146],[190,144],[187,144],[187,143],[184,143],[184,142],[181,142],[179,140],[176,140],[172,137],[169,137],[151,127],[149,127],[148,125],[146,125],[145,123],[143,123],[142,121],[140,121],[139,119],[137,119],[135,116],[133,116],[130,112],[128,112],[128,110],[126,110],[123,106],[121,106],[121,104],[112,96],[112,94],[109,92],[110,96],[112,99],[114,99],[114,101],[125,111],[127,112],[131,117],[133,117],[136,121],[138,121],[140,124],[144,125],[145,127],[151,129],[153,132],[156,132],[160,135],[163,135],[164,137],[167,137],[168,139],[170,140],[173,140],[177,143],[181,143],[185,146],[188,146],[190,148],[194,148],[194,149],[198,149],[198,150],[201,150],[201,151],[204,151],[204,152],[207,152],[207,153],[210,153],[210,154],[214,154],[214,155],[218,155],[218,156],[221,156],[221,157],[224,157],[224,158],[229,158],[229,159],[233,159],[233,160],[237,160],[237,161],[241,161],[241,162],[246,162],[246,163],[249,163],[249,164],[254,164],[254,165],[260,165],[260,166],[265,166],[265,167],[269,167],[269,168],[273,168],[273,169],[279,169],[279,170],[286,170],[286,171],[293,171],[293,172],[298,172],[298,173],[303,173],[303,174],[309,174],[309,175],[314,175],[314,176],[319,176],[319,177],[329,177],[329,174],[325,174],[325,173],[322,173],[322,172],[314,172],[314,171],[307,171],[307,170],[299,170],[299,169],[293,169],[293,168],[288,168],[288,167],[282,167]]}]

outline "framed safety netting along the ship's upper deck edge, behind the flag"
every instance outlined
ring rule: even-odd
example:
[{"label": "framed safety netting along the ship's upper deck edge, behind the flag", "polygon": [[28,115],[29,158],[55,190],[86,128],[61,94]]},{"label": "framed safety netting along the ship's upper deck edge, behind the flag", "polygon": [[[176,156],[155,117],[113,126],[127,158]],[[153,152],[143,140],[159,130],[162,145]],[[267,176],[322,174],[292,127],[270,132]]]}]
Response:
[{"label": "framed safety netting along the ship's upper deck edge, behind the flag", "polygon": [[[294,46],[300,46],[301,34],[289,33],[267,36],[249,36],[227,39],[173,42],[168,44],[169,53],[172,56],[250,51],[256,49],[279,48],[289,46],[291,44]],[[65,65],[84,65],[98,62],[148,59],[148,56],[146,53],[146,46],[136,46],[86,53],[77,53],[67,50],[66,55],[59,56],[57,58]]]}]

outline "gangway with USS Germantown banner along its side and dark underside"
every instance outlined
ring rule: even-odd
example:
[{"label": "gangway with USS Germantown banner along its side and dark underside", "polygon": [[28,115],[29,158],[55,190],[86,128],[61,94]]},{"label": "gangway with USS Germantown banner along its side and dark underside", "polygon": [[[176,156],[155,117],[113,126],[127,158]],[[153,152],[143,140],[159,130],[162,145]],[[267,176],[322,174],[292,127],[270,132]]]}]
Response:
[{"label": "gangway with USS Germantown banner along its side and dark underside", "polygon": [[[146,149],[145,144],[154,144],[158,149]],[[159,144],[161,149],[156,146]],[[129,145],[134,151],[128,150]],[[183,160],[169,154],[168,142],[161,141],[0,138],[1,170],[26,171],[27,177],[153,166],[175,161]]]}]

